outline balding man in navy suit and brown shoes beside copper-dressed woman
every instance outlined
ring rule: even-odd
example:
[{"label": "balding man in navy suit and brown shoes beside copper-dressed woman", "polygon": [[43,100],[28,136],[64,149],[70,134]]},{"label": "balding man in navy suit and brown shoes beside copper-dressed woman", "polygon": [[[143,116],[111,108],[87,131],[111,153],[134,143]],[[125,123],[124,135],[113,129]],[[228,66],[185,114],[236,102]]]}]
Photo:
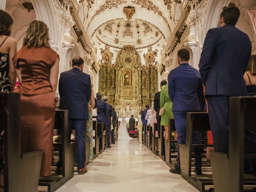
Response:
[{"label": "balding man in navy suit and brown shoes beside copper-dressed woman", "polygon": [[87,172],[84,166],[86,160],[86,121],[88,120],[88,102],[92,88],[90,75],[83,73],[84,60],[75,57],[72,60],[72,70],[60,74],[59,93],[60,109],[68,109],[68,130],[71,139],[72,129],[76,133],[76,161],[78,174]]}]

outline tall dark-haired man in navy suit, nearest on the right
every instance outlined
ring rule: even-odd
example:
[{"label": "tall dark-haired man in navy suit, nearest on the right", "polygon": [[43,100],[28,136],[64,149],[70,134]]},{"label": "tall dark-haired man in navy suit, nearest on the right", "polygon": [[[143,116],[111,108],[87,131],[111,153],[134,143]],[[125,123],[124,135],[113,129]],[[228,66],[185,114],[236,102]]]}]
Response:
[{"label": "tall dark-haired man in navy suit, nearest on the right", "polygon": [[[243,76],[252,44],[248,35],[235,27],[239,16],[237,7],[223,8],[219,28],[212,28],[206,34],[199,64],[206,88],[214,149],[221,152],[228,151],[229,98],[247,95]],[[255,152],[255,149],[255,137],[246,131],[245,150]]]}]

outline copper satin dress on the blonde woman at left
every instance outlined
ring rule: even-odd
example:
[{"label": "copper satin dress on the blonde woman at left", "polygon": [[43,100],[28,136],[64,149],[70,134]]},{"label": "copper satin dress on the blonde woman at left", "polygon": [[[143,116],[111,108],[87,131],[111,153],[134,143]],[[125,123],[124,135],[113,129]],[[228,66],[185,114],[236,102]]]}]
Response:
[{"label": "copper satin dress on the blonde woman at left", "polygon": [[17,90],[21,100],[22,152],[44,151],[40,176],[51,175],[55,107],[50,69],[57,57],[51,48],[27,46],[14,57],[14,66],[22,76]]}]

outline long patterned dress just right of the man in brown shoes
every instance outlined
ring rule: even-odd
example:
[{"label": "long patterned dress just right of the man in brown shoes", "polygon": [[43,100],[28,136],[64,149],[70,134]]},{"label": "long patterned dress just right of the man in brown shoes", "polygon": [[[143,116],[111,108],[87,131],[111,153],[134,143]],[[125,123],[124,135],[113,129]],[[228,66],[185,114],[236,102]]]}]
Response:
[{"label": "long patterned dress just right of the man in brown shoes", "polygon": [[93,160],[93,128],[92,128],[92,102],[88,103],[89,117],[86,124],[86,140],[90,140],[90,156],[89,160]]}]

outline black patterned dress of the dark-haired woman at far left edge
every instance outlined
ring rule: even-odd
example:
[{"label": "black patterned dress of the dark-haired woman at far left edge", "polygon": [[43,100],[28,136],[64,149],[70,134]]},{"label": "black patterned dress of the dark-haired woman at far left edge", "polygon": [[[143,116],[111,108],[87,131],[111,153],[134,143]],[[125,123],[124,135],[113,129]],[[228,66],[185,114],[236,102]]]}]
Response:
[{"label": "black patterned dress of the dark-haired woman at far left edge", "polygon": [[[2,44],[4,44],[4,39]],[[2,46],[0,45],[0,47]],[[9,54],[1,53],[0,52],[0,91],[1,92],[11,92],[12,90],[12,83],[9,77]]]}]

